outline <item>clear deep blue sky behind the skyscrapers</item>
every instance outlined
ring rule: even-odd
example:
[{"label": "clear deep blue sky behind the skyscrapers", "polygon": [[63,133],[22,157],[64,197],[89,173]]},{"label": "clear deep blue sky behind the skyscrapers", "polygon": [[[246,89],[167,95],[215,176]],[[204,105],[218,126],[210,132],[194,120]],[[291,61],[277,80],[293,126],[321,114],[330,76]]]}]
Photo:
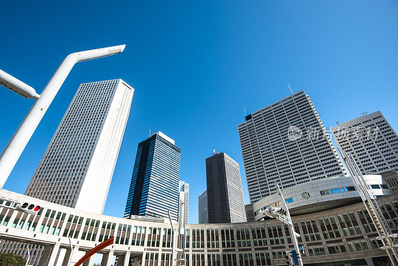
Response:
[{"label": "clear deep blue sky behind the skyscrapers", "polygon": [[[71,52],[126,44],[77,64],[4,188],[24,193],[83,82],[135,88],[104,214],[123,216],[138,142],[152,132],[181,148],[198,221],[206,157],[235,159],[248,192],[237,124],[246,112],[305,89],[326,127],[381,110],[398,130],[397,1],[4,1],[0,69],[41,92]],[[0,149],[33,104],[0,88]]]}]

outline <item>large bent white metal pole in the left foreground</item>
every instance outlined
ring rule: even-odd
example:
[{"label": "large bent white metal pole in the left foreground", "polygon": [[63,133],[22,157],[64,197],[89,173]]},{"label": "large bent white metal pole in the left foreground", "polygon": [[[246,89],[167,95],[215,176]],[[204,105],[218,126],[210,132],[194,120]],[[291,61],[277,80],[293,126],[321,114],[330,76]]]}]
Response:
[{"label": "large bent white metal pole in the left foreground", "polygon": [[5,181],[7,181],[7,178],[14,168],[15,163],[17,162],[23,149],[36,130],[41,119],[46,113],[55,95],[58,93],[58,90],[61,88],[61,85],[64,83],[69,72],[72,70],[73,66],[78,62],[121,53],[124,47],[125,45],[119,45],[82,51],[72,53],[65,57],[64,61],[62,61],[57,71],[55,71],[54,75],[51,77],[50,81],[41,92],[40,98],[38,98],[33,104],[29,113],[26,115],[21,125],[19,125],[18,129],[0,156],[0,189],[3,187]]}]

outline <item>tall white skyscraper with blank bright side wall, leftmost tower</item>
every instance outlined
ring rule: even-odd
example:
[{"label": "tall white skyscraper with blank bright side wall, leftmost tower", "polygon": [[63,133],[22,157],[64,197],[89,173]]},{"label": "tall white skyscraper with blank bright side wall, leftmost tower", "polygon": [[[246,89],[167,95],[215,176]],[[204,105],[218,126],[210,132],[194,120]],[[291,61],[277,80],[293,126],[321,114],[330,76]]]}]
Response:
[{"label": "tall white skyscraper with blank bright side wall, leftmost tower", "polygon": [[121,79],[81,84],[25,195],[101,214],[133,92]]}]

